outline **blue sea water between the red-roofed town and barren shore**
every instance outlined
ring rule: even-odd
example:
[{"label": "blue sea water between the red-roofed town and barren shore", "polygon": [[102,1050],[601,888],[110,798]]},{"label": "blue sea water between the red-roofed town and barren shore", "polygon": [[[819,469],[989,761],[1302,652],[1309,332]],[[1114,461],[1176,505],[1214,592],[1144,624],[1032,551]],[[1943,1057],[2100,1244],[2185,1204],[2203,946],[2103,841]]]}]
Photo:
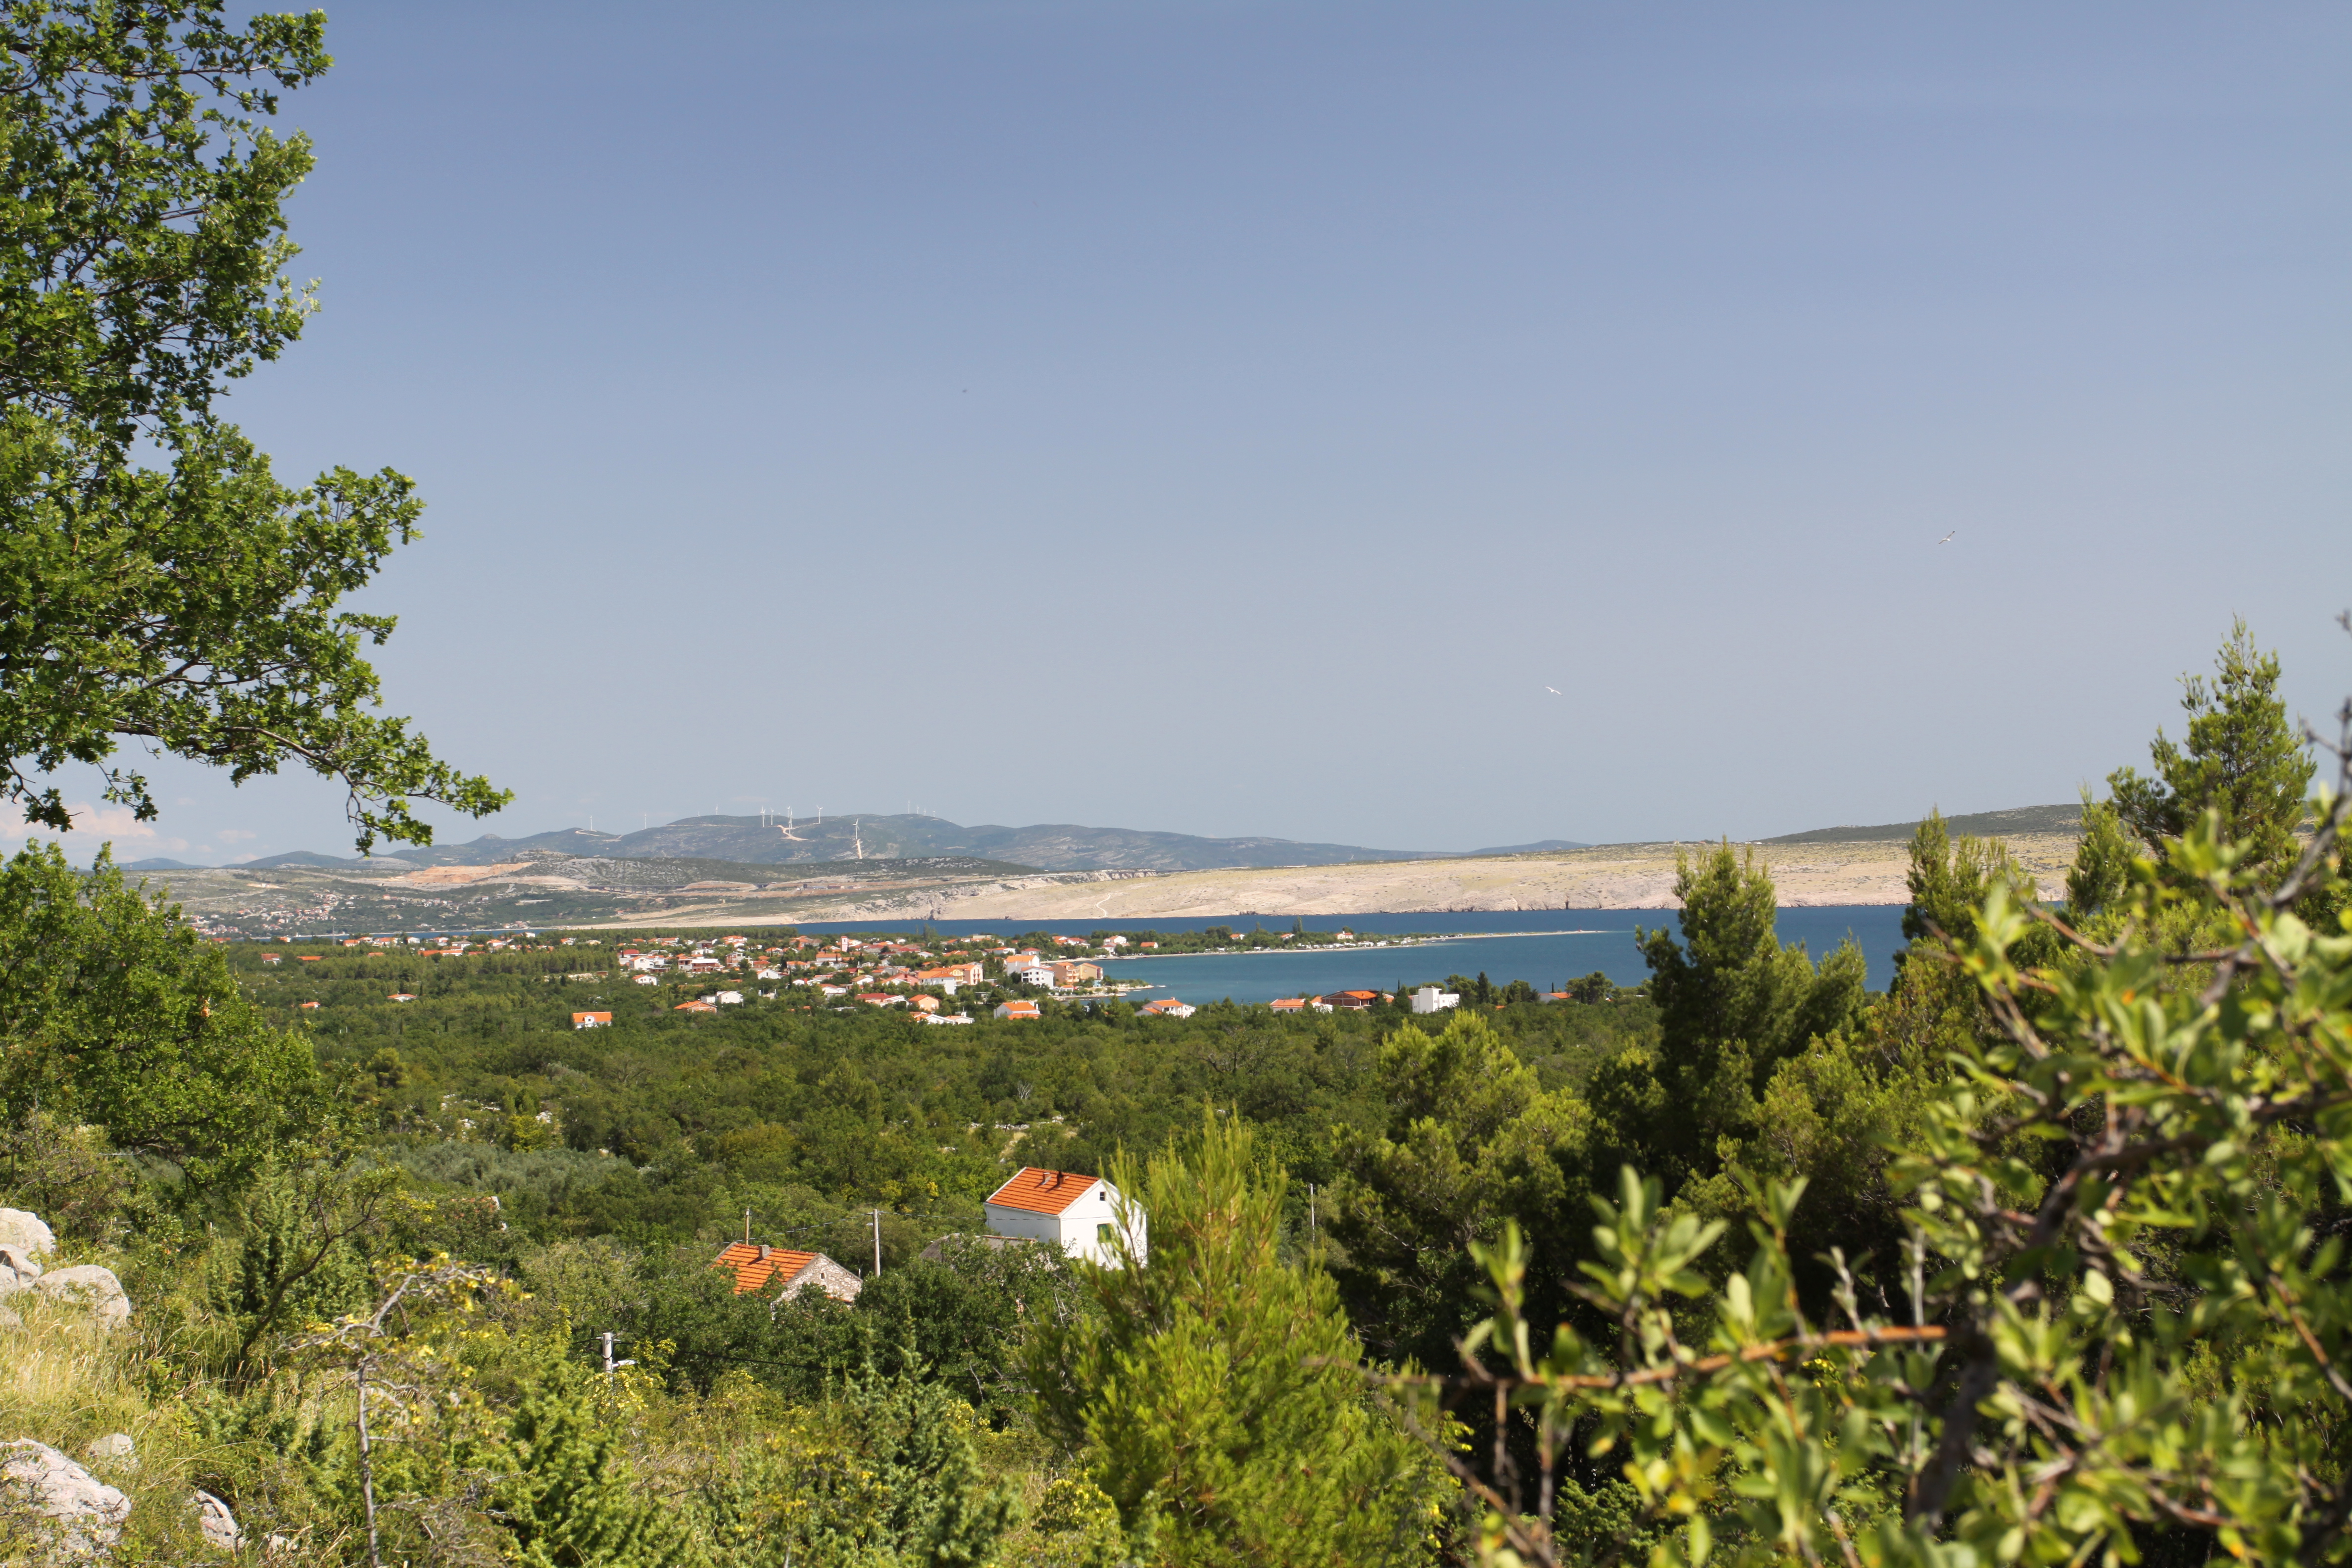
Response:
[{"label": "blue sea water between the red-roofed town and barren shore", "polygon": [[[1675,929],[1677,910],[1498,910],[1482,914],[1308,914],[1308,931],[1355,931],[1371,938],[1428,933],[1432,940],[1392,947],[1301,947],[1296,952],[1178,952],[1110,959],[1103,973],[1136,987],[1141,999],[1176,997],[1204,1004],[1218,999],[1272,1001],[1275,997],[1341,990],[1397,990],[1435,985],[1446,976],[1484,973],[1496,985],[1526,980],[1536,990],[1559,990],[1595,969],[1616,985],[1637,985],[1649,966],[1635,947],[1635,931]],[[1903,947],[1903,905],[1853,903],[1790,907],[1778,912],[1783,943],[1804,943],[1816,959],[1849,936],[1870,961],[1872,990],[1893,978],[1893,954]],[[941,936],[1014,936],[1051,931],[1289,931],[1289,914],[1225,914],[1218,919],[941,919]],[[908,931],[908,924],[826,922],[800,931]],[[922,926],[915,926],[922,929]]]}]

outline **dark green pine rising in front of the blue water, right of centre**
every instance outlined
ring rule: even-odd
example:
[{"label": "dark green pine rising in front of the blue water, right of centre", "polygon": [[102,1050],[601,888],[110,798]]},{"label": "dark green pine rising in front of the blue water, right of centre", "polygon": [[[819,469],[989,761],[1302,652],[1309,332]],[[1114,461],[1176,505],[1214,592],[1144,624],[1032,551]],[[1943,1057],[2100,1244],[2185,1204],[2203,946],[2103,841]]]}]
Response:
[{"label": "dark green pine rising in front of the blue water, right of centre", "polygon": [[1682,943],[1637,933],[1658,1004],[1656,1095],[1639,1147],[1679,1185],[1712,1173],[1717,1140],[1755,1126],[1773,1067],[1816,1034],[1849,1025],[1867,961],[1844,940],[1816,969],[1802,943],[1780,945],[1771,875],[1726,839],[1703,860],[1675,860]]}]

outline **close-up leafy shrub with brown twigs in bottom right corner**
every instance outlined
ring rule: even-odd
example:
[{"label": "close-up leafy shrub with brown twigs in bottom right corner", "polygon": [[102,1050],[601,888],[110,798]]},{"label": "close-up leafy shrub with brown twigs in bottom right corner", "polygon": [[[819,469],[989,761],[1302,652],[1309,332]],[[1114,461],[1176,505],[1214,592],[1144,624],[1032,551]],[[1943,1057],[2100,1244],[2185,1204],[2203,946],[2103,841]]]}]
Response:
[{"label": "close-up leafy shrub with brown twigs in bottom right corner", "polygon": [[[2286,863],[2218,806],[2161,839],[2110,893],[2112,943],[2025,964],[2049,926],[1985,879],[1945,957],[1992,1027],[1952,1039],[1886,1168],[1907,1314],[1875,1312],[1842,1248],[1830,1312],[1806,1309],[1804,1180],[1748,1182],[1752,1255],[1717,1291],[1722,1220],[1628,1171],[1583,1265],[1613,1342],[1534,1328],[1515,1229],[1479,1248],[1501,1309],[1465,1352],[1501,1366],[1468,1382],[1529,1415],[1545,1476],[1573,1434],[1642,1500],[1613,1537],[1569,1537],[1548,1488],[1449,1455],[1486,1502],[1489,1561],[1595,1561],[1639,1528],[1672,1535],[1653,1563],[2140,1561],[2159,1540],[2178,1561],[2343,1561],[2352,924],[2296,910],[2343,882],[2352,705],[2340,757]],[[2183,952],[2169,931],[2230,940]]]}]

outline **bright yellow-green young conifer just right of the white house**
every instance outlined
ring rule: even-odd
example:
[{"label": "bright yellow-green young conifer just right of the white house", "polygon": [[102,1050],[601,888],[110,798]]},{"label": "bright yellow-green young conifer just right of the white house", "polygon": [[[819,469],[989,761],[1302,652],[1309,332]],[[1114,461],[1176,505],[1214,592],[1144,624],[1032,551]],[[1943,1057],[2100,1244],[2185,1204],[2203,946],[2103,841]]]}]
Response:
[{"label": "bright yellow-green young conifer just right of the white house", "polygon": [[1094,1309],[1028,1342],[1040,1422],[1169,1563],[1421,1561],[1439,1476],[1367,1399],[1331,1279],[1282,1258],[1287,1182],[1214,1112],[1190,1147],[1112,1161],[1150,1260],[1077,1265]]}]

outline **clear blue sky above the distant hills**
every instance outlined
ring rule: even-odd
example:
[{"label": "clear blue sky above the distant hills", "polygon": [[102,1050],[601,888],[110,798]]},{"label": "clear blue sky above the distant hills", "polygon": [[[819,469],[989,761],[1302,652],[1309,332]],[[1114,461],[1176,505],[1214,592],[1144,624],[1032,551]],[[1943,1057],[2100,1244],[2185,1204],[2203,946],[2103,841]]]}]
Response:
[{"label": "clear blue sky above the distant hills", "polygon": [[[492,832],[1776,835],[2070,799],[2232,614],[2293,705],[2352,691],[2343,5],[365,0],[329,45],[282,115],[322,310],[233,414],[421,482],[365,604]],[[151,771],[125,858],[350,839],[308,773]]]}]

